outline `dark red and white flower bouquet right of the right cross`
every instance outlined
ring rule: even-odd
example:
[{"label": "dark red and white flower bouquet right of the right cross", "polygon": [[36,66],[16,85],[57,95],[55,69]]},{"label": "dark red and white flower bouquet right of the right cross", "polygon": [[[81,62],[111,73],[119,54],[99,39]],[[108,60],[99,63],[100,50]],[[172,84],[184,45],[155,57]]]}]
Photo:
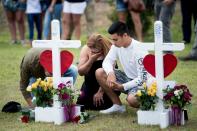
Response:
[{"label": "dark red and white flower bouquet right of the right cross", "polygon": [[165,94],[163,100],[167,106],[178,106],[183,109],[191,104],[192,94],[186,85],[176,85],[174,88],[167,87],[163,92]]}]

